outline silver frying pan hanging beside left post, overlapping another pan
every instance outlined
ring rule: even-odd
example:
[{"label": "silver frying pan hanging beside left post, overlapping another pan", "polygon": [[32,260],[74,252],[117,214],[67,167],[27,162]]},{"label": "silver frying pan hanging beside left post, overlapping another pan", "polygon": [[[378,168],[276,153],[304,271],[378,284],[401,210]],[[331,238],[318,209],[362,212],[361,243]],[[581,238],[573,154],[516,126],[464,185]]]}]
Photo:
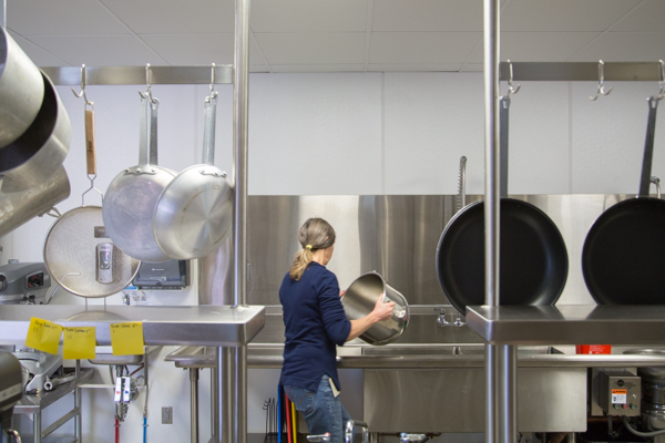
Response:
[{"label": "silver frying pan hanging beside left post, overlapping another pan", "polygon": [[187,260],[218,249],[231,229],[233,189],[214,165],[216,93],[205,99],[203,164],[181,172],[155,206],[154,235],[164,254]]}]

